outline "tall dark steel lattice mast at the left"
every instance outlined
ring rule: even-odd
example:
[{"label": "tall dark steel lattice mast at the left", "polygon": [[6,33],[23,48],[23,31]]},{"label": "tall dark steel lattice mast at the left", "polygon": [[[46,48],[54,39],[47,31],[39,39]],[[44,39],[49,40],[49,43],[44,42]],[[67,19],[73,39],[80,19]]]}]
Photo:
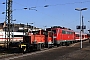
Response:
[{"label": "tall dark steel lattice mast at the left", "polygon": [[7,23],[7,48],[9,48],[10,43],[10,26],[11,26],[11,20],[12,20],[12,0],[6,0],[6,21]]}]

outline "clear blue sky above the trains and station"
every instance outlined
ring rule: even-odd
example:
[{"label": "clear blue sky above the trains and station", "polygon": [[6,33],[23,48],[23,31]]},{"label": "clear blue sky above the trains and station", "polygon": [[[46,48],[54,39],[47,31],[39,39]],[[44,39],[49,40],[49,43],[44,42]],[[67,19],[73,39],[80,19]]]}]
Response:
[{"label": "clear blue sky above the trains and station", "polygon": [[[5,15],[1,13],[5,11],[5,5],[0,0],[0,22],[4,22]],[[48,7],[44,7],[49,5]],[[23,8],[31,8],[35,10],[24,10]],[[71,28],[76,31],[76,26],[80,25],[80,12],[75,8],[88,8],[82,11],[84,16],[84,24],[90,29],[90,0],[13,0],[13,19],[14,23],[31,23],[34,22],[36,27],[43,26],[62,26]],[[16,9],[16,10],[15,10]],[[86,31],[87,31],[86,29]]]}]

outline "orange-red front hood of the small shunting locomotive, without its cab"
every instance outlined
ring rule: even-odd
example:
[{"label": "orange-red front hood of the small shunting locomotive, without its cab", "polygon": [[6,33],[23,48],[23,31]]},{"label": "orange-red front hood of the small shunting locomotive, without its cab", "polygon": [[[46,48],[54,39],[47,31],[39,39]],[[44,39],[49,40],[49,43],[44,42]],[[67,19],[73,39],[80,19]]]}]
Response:
[{"label": "orange-red front hood of the small shunting locomotive, without its cab", "polygon": [[28,33],[28,36],[24,36],[24,41],[29,41],[30,44],[45,43],[45,35],[41,34],[41,31],[34,31],[33,34]]}]

